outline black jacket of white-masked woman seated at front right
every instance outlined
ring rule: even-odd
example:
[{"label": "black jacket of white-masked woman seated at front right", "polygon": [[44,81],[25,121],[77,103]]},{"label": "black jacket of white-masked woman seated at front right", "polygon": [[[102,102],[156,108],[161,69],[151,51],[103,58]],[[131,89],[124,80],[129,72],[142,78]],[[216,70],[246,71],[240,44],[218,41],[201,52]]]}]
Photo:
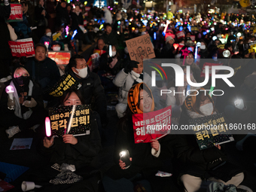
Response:
[{"label": "black jacket of white-masked woman seated at front right", "polygon": [[[180,125],[188,125],[190,118],[183,105]],[[221,145],[221,150],[215,146],[200,150],[193,130],[186,131],[191,133],[177,136],[178,142],[175,146],[180,175],[189,174],[200,178],[215,177],[227,182],[234,175],[242,172],[242,169],[227,160],[227,155],[224,153],[224,145]],[[221,166],[222,163],[224,165]]]}]

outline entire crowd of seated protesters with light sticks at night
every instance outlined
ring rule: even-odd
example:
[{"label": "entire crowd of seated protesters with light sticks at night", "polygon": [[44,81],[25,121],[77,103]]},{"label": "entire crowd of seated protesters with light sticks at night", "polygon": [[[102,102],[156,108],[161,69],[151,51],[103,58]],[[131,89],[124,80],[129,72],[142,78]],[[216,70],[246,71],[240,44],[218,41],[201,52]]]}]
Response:
[{"label": "entire crowd of seated protesters with light sticks at night", "polygon": [[[187,12],[173,15],[170,11],[151,14],[139,9],[120,11],[111,7],[86,7],[79,1],[67,3],[65,0],[40,0],[35,10],[29,1],[21,1],[20,4],[23,21],[14,23],[6,23],[11,13],[8,0],[0,5],[0,86],[14,87],[14,99],[5,91],[2,93],[0,115],[5,121],[1,121],[0,125],[11,139],[23,130],[40,129],[38,127],[44,125],[50,107],[92,104],[91,122],[95,128],[90,136],[67,134],[63,139],[41,138],[43,145],[40,150],[50,156],[50,163],[69,163],[78,168],[77,175],[69,175],[69,172],[59,175],[77,179],[76,184],[75,181],[66,182],[62,183],[66,185],[56,187],[54,184],[61,182],[50,180],[58,175],[50,166],[41,170],[41,175],[38,171],[32,172],[29,179],[44,184],[48,180],[53,181],[52,185],[43,187],[49,191],[97,191],[102,179],[100,183],[105,191],[139,191],[139,187],[147,191],[197,191],[204,181],[233,184],[237,191],[252,191],[242,184],[246,175],[239,166],[230,162],[225,145],[200,151],[191,135],[171,135],[153,139],[151,143],[135,144],[132,114],[157,111],[171,105],[172,124],[179,126],[189,124],[190,119],[217,113],[224,114],[230,123],[254,123],[256,41],[253,14]],[[36,29],[33,29],[34,26]],[[81,26],[84,26],[85,32]],[[151,73],[145,72],[145,61],[130,59],[126,41],[147,34],[156,59],[171,59],[181,66],[183,87],[175,86],[178,80],[172,69],[165,69],[170,77],[168,80],[157,80],[157,86],[151,86],[152,77]],[[8,41],[23,38],[32,38],[35,56],[11,56]],[[46,41],[49,44],[45,44]],[[91,66],[78,54],[83,44],[93,44],[90,55],[98,53],[97,61]],[[47,57],[48,50],[70,50],[72,57],[69,65],[57,66]],[[231,67],[234,75],[229,80],[234,87],[228,87],[224,81],[216,81],[215,89],[223,90],[223,96],[203,96],[201,92],[193,92],[189,96],[175,95],[175,92],[212,88],[212,81],[203,87],[193,87],[187,82],[187,77],[194,84],[203,82],[206,63]],[[190,66],[190,72],[186,66]],[[65,74],[78,81],[78,90],[67,90],[60,99],[50,96],[47,90]],[[227,71],[219,74],[227,74]],[[161,89],[171,91],[160,95]],[[99,154],[101,130],[108,125],[107,92],[117,93],[115,110],[120,122],[114,151],[116,165],[103,172],[102,177],[102,173],[90,163]],[[236,99],[242,99],[243,108],[236,107]],[[237,148],[249,151],[248,146],[255,146],[256,140],[248,135],[245,142],[239,143],[243,137],[234,136]],[[132,161],[127,169],[125,163],[119,160],[119,152],[125,149],[130,151]],[[255,154],[248,155],[256,163]],[[173,177],[156,177],[159,170],[172,172]]]}]

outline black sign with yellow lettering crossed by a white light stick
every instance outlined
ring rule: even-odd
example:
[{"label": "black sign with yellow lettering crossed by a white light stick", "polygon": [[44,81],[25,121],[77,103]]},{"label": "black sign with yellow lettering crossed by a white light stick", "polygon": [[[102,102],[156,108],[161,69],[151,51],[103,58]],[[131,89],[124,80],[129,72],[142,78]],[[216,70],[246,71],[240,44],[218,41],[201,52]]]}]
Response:
[{"label": "black sign with yellow lettering crossed by a white light stick", "polygon": [[[72,105],[49,109],[52,136],[62,137],[69,126]],[[90,135],[90,105],[76,105],[72,117],[71,130],[73,136]]]}]

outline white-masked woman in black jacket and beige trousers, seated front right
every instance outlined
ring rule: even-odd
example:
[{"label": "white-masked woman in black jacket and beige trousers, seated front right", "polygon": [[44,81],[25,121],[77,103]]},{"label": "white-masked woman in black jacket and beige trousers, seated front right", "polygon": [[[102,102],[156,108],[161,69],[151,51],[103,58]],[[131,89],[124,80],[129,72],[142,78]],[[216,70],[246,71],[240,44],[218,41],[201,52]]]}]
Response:
[{"label": "white-masked woman in black jacket and beige trousers, seated front right", "polygon": [[[200,88],[200,90],[204,89]],[[199,91],[199,94],[194,91],[184,101],[180,124],[189,125],[190,119],[206,117],[211,114],[217,114],[212,98],[207,93],[205,95],[204,91]],[[225,134],[223,131],[226,130],[217,129],[217,133],[212,131],[214,130],[200,131],[201,135],[200,133],[196,134],[197,139],[194,136],[194,130],[190,135],[185,134],[177,137],[178,142],[175,150],[178,153],[180,179],[188,192],[200,190],[203,178],[236,186],[243,181],[242,169],[228,161],[227,154],[224,153],[224,148],[221,145],[200,150],[197,142],[203,141],[209,135]]]}]

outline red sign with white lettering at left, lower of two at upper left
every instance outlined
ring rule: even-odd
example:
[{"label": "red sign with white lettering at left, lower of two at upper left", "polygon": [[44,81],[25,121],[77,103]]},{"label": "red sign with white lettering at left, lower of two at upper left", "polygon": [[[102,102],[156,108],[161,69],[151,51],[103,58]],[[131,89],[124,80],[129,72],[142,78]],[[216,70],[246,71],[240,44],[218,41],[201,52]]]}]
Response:
[{"label": "red sign with white lettering at left, lower of two at upper left", "polygon": [[8,44],[10,46],[12,56],[35,56],[33,41],[8,41]]}]

